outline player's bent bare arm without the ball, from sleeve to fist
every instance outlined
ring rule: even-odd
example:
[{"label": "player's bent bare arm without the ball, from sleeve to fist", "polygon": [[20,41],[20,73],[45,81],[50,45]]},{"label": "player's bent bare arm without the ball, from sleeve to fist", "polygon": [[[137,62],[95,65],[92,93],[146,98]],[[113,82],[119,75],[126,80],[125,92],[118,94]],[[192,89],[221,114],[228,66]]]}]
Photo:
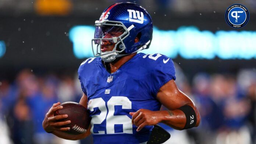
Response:
[{"label": "player's bent bare arm without the ball, from sleeve to fist", "polygon": [[[185,127],[187,121],[191,122],[186,117],[185,112],[194,111],[196,115],[195,127],[200,123],[200,115],[193,101],[182,93],[174,80],[170,80],[164,84],[157,93],[157,99],[163,104],[169,111],[150,111],[148,109],[139,109],[137,112],[132,112],[132,123],[138,126],[137,131],[141,130],[146,125],[156,125],[159,122],[165,123],[174,129],[182,130]],[[187,109],[184,112],[181,110],[185,106]],[[189,107],[188,107],[189,106]],[[184,107],[183,107],[184,108]],[[189,109],[192,108],[192,109]],[[195,120],[195,118],[193,118]]]}]

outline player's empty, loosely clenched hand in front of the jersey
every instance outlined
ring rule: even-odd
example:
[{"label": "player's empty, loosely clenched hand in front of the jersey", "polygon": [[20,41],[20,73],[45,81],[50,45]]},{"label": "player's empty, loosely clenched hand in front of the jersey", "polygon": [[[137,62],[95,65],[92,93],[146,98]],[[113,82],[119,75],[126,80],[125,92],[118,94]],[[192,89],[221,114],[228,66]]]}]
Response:
[{"label": "player's empty, loosely clenched hand in front of the jersey", "polygon": [[138,127],[137,132],[145,126],[156,125],[160,122],[161,117],[159,111],[150,111],[148,109],[139,109],[129,114],[132,116],[132,124]]}]

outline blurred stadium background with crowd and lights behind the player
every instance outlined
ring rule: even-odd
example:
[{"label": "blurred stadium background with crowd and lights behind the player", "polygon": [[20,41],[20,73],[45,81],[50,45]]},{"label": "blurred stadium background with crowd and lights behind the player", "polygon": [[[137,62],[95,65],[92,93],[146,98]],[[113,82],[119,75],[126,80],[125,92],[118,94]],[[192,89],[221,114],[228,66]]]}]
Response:
[{"label": "blurred stadium background with crowd and lights behind the player", "polygon": [[[82,96],[77,69],[92,57],[94,22],[124,0],[0,0],[0,143],[63,144],[44,132],[54,102]],[[127,0],[129,1],[129,0]],[[176,65],[179,88],[201,114],[198,128],[172,130],[168,144],[256,144],[256,1],[135,0],[150,13],[152,45]],[[225,10],[239,3],[249,23],[233,29]],[[163,108],[164,109],[164,108]]]}]

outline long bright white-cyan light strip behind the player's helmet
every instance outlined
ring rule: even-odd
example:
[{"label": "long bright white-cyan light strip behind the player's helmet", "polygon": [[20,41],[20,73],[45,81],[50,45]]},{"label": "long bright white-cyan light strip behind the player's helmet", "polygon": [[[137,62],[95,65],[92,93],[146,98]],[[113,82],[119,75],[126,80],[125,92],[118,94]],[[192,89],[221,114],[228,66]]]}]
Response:
[{"label": "long bright white-cyan light strip behind the player's helmet", "polygon": [[[74,26],[69,38],[77,58],[93,57],[91,39],[94,26]],[[256,31],[200,31],[195,26],[181,26],[177,30],[154,27],[151,46],[141,53],[162,53],[171,58],[185,59],[252,59],[256,58]]]}]

